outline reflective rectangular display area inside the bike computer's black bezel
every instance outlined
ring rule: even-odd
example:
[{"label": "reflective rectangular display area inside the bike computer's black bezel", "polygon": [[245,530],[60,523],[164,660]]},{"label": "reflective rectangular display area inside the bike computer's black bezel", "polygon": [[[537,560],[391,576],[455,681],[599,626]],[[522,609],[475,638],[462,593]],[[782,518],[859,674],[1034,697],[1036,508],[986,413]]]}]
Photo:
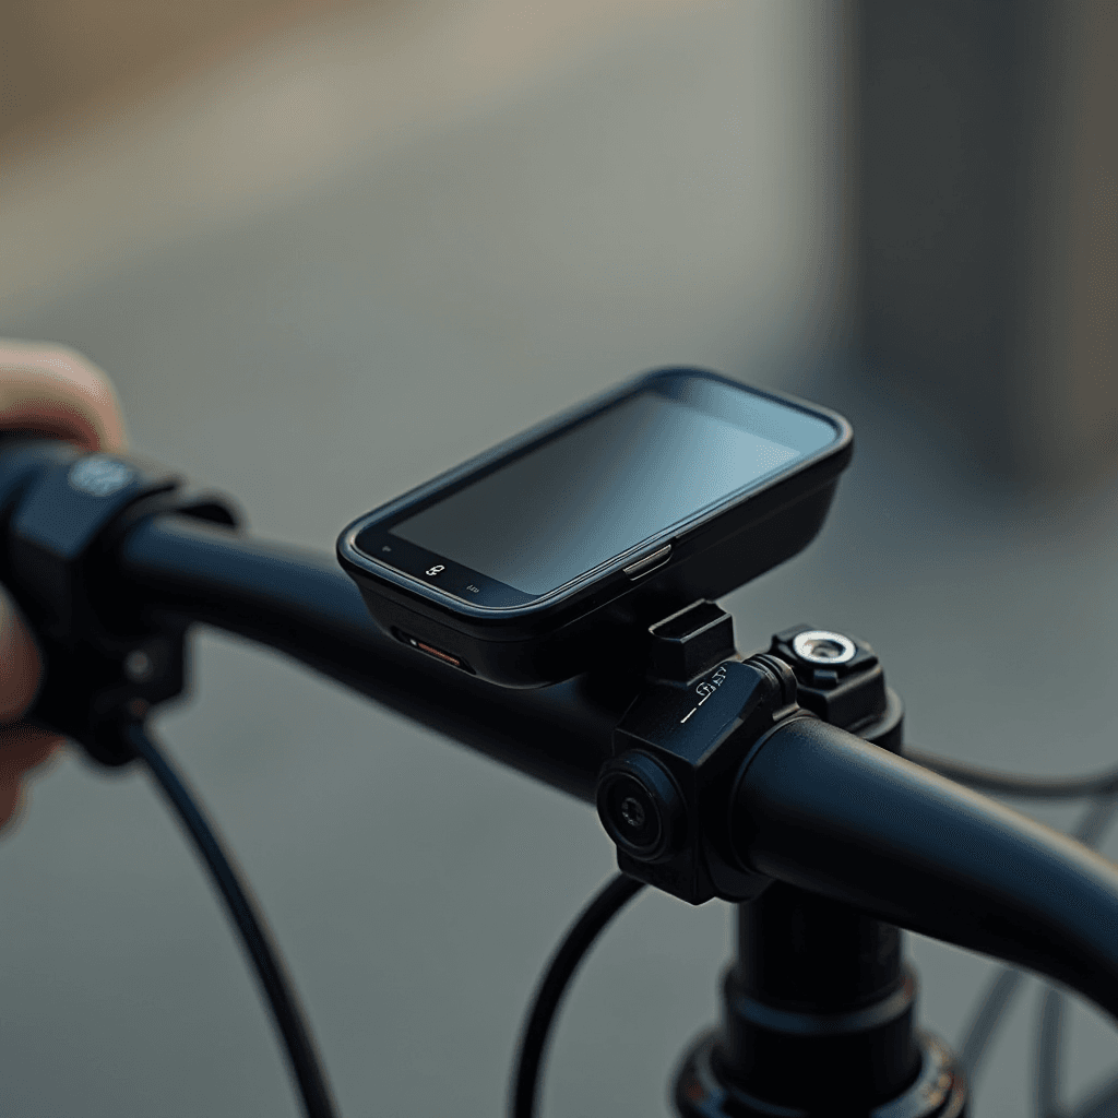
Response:
[{"label": "reflective rectangular display area inside the bike computer's black bezel", "polygon": [[643,392],[391,531],[536,596],[796,456],[705,411]]}]

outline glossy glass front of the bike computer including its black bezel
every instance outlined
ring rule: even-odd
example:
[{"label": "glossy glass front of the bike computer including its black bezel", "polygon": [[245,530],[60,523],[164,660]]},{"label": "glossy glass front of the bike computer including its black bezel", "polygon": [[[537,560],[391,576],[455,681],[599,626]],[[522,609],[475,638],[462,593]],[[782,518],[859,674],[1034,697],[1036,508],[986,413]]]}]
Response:
[{"label": "glossy glass front of the bike computer including its black bezel", "polygon": [[522,605],[685,530],[840,437],[827,418],[732,381],[650,378],[353,542],[443,594]]}]

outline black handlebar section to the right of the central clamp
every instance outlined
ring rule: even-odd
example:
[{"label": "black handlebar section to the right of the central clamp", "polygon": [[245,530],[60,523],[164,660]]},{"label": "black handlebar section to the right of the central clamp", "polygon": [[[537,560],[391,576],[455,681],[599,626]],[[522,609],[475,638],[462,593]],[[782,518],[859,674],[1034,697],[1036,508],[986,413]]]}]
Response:
[{"label": "black handlebar section to the right of the central clamp", "polygon": [[1039,972],[1118,1017],[1118,866],[816,719],[769,737],[735,796],[754,870]]}]

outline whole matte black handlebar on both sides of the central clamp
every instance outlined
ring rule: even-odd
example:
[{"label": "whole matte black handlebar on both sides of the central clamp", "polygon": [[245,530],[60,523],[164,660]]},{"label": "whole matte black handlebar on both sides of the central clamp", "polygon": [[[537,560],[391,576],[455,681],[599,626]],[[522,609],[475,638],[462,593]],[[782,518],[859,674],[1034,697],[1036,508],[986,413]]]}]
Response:
[{"label": "whole matte black handlebar on both sides of the central clamp", "polygon": [[[13,481],[4,473],[7,458],[0,451],[4,531],[23,533],[26,556],[46,555],[20,520],[28,502],[44,501],[41,492],[36,496],[36,471],[25,454]],[[65,464],[57,454],[42,462],[44,471],[55,471],[50,484],[61,484]],[[98,537],[96,570],[111,577],[88,580],[111,587],[113,603],[268,645],[502,764],[594,800],[614,729],[641,686],[635,665],[608,680],[496,689],[381,634],[332,557],[253,541],[158,505],[138,514],[154,483],[136,485],[132,505],[122,498],[127,517],[122,512],[116,529]],[[56,515],[51,531],[58,530]],[[40,550],[28,551],[32,543]],[[0,570],[17,576],[19,596],[19,571],[7,556],[0,556]],[[39,577],[36,593],[45,586]],[[1032,968],[1118,1016],[1118,869],[1024,815],[800,716],[778,726],[745,768],[730,823],[740,861],[757,872]]]}]

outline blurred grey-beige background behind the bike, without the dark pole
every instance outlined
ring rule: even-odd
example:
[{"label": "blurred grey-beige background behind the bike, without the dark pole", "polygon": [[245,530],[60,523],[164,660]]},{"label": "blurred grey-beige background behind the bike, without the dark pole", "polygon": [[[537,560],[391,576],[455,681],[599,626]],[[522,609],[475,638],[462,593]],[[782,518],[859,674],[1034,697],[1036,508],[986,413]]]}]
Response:
[{"label": "blurred grey-beige background behind the bike, without the dark pole", "polygon": [[[1022,465],[991,452],[1020,439],[994,438],[996,408],[976,419],[949,354],[942,376],[900,343],[863,360],[869,141],[851,122],[872,82],[860,101],[851,6],[267,7],[209,37],[133,21],[127,80],[93,74],[72,104],[19,86],[0,332],[87,353],[136,451],[233,494],[260,536],[323,550],[642,369],[798,391],[852,419],[855,463],[819,540],[729,599],[740,646],[845,628],[922,748],[1033,773],[1118,761],[1114,415],[1087,407],[1096,434]],[[108,15],[70,9],[89,41],[59,45],[27,3],[27,50],[116,41]],[[1011,369],[991,398],[1059,395],[1070,360],[1020,391]],[[1112,356],[1101,368],[1105,387]],[[536,975],[612,869],[593,813],[275,655],[212,633],[193,651],[193,695],[160,728],[287,953],[342,1111],[501,1112]],[[0,1110],[296,1114],[143,779],[70,756],[32,799],[0,844]],[[546,1114],[669,1112],[729,916],[650,896],[618,920],[566,1005]],[[991,965],[911,948],[925,1022],[955,1040]],[[974,1114],[1027,1109],[1034,1027],[1030,989]],[[1074,1097],[1114,1071],[1114,1034],[1079,1008],[1069,1043]]]}]

